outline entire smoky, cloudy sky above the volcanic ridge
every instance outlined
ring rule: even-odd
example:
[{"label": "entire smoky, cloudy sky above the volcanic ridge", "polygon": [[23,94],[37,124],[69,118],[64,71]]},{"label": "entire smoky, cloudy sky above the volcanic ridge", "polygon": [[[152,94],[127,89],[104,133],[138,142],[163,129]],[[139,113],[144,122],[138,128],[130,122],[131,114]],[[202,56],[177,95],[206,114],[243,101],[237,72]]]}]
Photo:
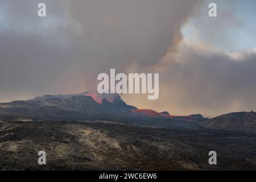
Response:
[{"label": "entire smoky, cloudy sky above the volcanic ridge", "polygon": [[[97,89],[97,75],[159,73],[127,104],[205,117],[256,110],[254,0],[0,1],[0,102]],[[215,2],[217,17],[208,16]]]}]

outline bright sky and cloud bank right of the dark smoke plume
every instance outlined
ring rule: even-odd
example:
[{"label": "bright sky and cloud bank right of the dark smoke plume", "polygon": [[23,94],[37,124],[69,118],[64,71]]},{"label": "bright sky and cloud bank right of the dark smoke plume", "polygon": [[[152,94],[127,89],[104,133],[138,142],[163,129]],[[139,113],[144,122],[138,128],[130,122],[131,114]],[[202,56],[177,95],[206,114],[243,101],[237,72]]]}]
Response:
[{"label": "bright sky and cloud bank right of the dark smoke plume", "polygon": [[244,49],[238,43],[247,40],[250,26],[240,21],[237,1],[217,1],[218,18],[209,18],[208,2],[201,4],[197,14],[184,24],[187,29],[183,27],[184,38],[176,43],[179,46],[170,47],[166,56],[151,67],[160,72],[159,100],[151,102],[134,96],[129,104],[138,102],[141,108],[207,117],[256,109],[256,45],[251,44],[255,36],[251,35],[250,41],[254,47]]}]

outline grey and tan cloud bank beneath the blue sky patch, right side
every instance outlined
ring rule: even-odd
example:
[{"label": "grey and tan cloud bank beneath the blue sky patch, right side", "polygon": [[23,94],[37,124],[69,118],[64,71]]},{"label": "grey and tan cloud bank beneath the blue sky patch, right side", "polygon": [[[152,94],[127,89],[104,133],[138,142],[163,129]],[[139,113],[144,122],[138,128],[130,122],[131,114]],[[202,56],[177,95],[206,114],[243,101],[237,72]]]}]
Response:
[{"label": "grey and tan cloud bank beneath the blue sky patch, right side", "polygon": [[[140,100],[138,107],[181,115],[201,113],[206,117],[256,109],[253,49],[230,56],[228,52],[183,42],[175,59],[171,67],[160,72],[159,100]],[[139,98],[135,96],[135,100]]]}]

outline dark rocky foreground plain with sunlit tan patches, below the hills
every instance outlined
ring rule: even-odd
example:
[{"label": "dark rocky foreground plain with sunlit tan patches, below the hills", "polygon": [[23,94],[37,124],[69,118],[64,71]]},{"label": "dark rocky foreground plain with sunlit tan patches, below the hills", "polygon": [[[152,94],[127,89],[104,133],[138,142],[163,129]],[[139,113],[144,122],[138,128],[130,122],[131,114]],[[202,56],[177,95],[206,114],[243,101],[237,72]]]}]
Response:
[{"label": "dark rocky foreground plain with sunlit tan patches, below the hills", "polygon": [[[39,166],[38,151],[47,165]],[[217,165],[208,152],[217,152]],[[256,135],[98,122],[0,123],[1,170],[255,170]]]}]

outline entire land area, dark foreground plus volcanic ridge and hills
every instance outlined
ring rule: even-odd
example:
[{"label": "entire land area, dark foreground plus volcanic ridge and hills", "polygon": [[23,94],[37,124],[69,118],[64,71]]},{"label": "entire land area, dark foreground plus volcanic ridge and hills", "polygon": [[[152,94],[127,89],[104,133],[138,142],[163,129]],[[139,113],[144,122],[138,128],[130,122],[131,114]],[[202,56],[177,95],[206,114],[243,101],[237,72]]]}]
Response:
[{"label": "entire land area, dark foreground plus volcanic ridge and hills", "polygon": [[255,154],[255,113],[175,116],[88,92],[0,104],[0,170],[255,170]]}]

